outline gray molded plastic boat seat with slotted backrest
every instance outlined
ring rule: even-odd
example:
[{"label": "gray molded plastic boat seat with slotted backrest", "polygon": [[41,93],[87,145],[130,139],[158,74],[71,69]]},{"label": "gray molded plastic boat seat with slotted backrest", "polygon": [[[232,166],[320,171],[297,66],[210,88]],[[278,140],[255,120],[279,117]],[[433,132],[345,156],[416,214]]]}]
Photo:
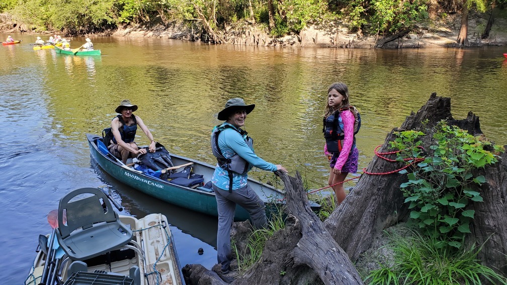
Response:
[{"label": "gray molded plastic boat seat with slotted backrest", "polygon": [[127,246],[133,233],[101,190],[81,188],[60,200],[56,237],[71,260],[82,261]]}]

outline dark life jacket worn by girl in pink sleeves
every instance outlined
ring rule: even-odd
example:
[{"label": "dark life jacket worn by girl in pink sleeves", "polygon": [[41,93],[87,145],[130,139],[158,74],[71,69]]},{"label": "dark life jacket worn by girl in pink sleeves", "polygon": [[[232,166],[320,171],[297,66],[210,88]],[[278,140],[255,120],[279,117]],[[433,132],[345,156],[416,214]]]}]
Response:
[{"label": "dark life jacket worn by girl in pink sleeves", "polygon": [[340,153],[342,151],[345,133],[343,132],[343,121],[340,114],[345,110],[352,112],[355,118],[352,148],[355,147],[355,134],[361,127],[361,116],[359,112],[354,112],[350,107],[344,107],[323,119],[322,132],[324,133],[325,144],[330,153]]}]

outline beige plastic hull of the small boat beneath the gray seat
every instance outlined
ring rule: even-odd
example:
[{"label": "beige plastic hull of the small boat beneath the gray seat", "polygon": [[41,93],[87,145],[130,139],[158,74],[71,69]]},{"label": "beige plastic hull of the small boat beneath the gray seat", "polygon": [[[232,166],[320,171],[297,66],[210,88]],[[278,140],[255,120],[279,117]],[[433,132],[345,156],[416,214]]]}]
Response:
[{"label": "beige plastic hull of the small boat beneath the gray seat", "polygon": [[[155,283],[152,279],[156,278],[154,276],[157,275],[160,284],[185,284],[181,266],[176,254],[176,249],[174,247],[174,239],[169,227],[167,226],[167,218],[164,215],[160,213],[152,213],[141,219],[120,215],[120,220],[122,223],[129,226],[132,232],[134,232],[133,240],[141,245],[141,248],[143,248],[144,258],[146,261],[143,261],[138,253],[130,250],[135,253],[135,255],[114,260],[111,263],[111,267],[108,264],[97,264],[95,261],[96,259],[92,262],[87,261],[87,264],[89,264],[87,268],[88,273],[94,274],[92,273],[94,270],[106,272],[112,270],[112,272],[116,275],[108,276],[108,274],[104,272],[104,274],[101,274],[100,277],[104,280],[105,284],[113,284],[115,282],[112,282],[112,280],[119,278],[118,274],[129,277],[129,270],[132,266],[138,266],[141,276],[141,285]],[[47,237],[50,238],[50,235],[48,234]],[[56,244],[56,246],[58,245]],[[60,250],[62,251],[61,248],[58,249],[58,251]],[[116,254],[112,253],[111,255],[115,256]],[[127,254],[124,255],[128,256]],[[41,282],[45,260],[46,255],[40,251],[33,262],[33,267],[30,269],[28,278],[25,282],[26,285],[39,284]],[[68,267],[70,263],[71,261],[62,264],[61,274],[59,275],[62,282],[67,281],[70,277],[70,274],[68,274]],[[154,264],[156,264],[157,269],[157,272],[155,273],[153,272]],[[86,276],[86,274],[86,272],[80,272],[81,276]],[[111,280],[108,278],[111,278]],[[71,280],[69,280],[69,282],[73,283]],[[79,284],[86,283],[80,283],[76,280],[74,280],[74,282]]]}]

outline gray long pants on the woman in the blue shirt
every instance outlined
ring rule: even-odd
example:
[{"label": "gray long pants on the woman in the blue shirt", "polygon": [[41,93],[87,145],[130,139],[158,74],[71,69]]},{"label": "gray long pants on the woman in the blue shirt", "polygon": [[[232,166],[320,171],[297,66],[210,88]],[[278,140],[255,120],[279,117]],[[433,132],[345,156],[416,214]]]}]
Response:
[{"label": "gray long pants on the woman in the blue shirt", "polygon": [[220,189],[214,185],[211,186],[215,192],[216,207],[219,212],[219,228],[216,233],[216,250],[218,263],[222,264],[222,270],[229,270],[231,264],[231,227],[236,213],[236,204],[245,208],[250,214],[253,227],[261,229],[266,227],[266,211],[264,202],[259,196],[246,185],[243,188],[233,190]]}]

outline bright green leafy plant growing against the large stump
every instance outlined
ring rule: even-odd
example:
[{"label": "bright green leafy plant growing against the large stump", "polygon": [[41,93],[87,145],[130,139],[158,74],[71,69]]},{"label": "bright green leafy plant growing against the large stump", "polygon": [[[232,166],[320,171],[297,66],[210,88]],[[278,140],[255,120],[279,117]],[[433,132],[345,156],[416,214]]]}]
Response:
[{"label": "bright green leafy plant growing against the large stump", "polygon": [[396,135],[391,147],[400,151],[398,160],[419,161],[413,172],[400,172],[408,173],[408,182],[400,187],[405,202],[410,203],[409,224],[438,240],[440,247],[460,248],[475,215],[467,206],[483,201],[481,193],[473,189],[486,181],[482,175],[474,177],[473,170],[496,163],[495,153],[502,148],[445,122],[438,124],[427,155],[421,148],[423,132],[409,130]]}]

